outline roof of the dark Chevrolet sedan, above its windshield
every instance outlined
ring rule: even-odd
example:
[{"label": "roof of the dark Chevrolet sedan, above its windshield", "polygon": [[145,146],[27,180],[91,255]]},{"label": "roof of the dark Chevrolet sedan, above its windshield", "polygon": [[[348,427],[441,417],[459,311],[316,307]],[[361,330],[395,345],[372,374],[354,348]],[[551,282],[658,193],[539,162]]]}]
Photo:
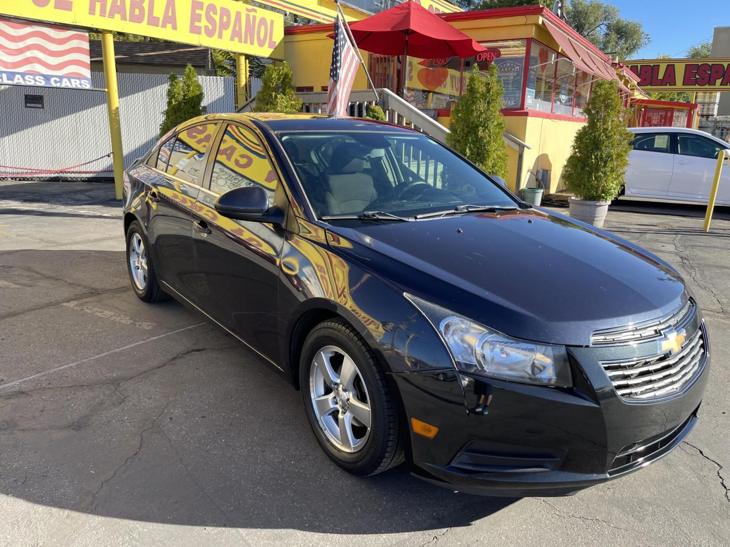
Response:
[{"label": "roof of the dark Chevrolet sedan, above its windshield", "polygon": [[409,128],[361,117],[328,117],[323,114],[280,114],[277,112],[231,112],[209,114],[188,120],[185,125],[200,121],[258,122],[269,131],[388,131],[413,133]]}]

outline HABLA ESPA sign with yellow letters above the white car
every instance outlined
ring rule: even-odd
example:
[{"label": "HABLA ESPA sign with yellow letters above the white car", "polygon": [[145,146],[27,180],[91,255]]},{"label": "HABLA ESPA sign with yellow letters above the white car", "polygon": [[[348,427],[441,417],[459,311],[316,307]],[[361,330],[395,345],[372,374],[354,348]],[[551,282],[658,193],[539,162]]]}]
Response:
[{"label": "HABLA ESPA sign with yellow letters above the white car", "polygon": [[730,59],[626,61],[644,91],[730,91]]}]

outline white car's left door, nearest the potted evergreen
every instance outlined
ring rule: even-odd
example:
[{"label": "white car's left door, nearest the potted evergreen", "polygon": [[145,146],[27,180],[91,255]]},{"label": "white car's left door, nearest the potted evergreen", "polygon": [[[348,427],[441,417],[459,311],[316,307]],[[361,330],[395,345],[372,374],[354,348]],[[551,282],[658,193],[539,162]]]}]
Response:
[{"label": "white car's left door, nearest the potted evergreen", "polygon": [[674,162],[669,133],[636,133],[626,167],[626,195],[665,196],[672,182]]}]

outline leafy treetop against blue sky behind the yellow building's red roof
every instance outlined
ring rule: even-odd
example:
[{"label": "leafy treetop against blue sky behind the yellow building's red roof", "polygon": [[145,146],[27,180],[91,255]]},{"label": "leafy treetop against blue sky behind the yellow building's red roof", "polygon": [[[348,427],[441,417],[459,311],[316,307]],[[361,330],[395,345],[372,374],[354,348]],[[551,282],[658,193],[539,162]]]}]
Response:
[{"label": "leafy treetop against blue sky behind the yellow building's red roof", "polygon": [[578,34],[612,57],[631,58],[650,42],[642,23],[622,18],[618,7],[600,0],[571,0],[565,16]]}]

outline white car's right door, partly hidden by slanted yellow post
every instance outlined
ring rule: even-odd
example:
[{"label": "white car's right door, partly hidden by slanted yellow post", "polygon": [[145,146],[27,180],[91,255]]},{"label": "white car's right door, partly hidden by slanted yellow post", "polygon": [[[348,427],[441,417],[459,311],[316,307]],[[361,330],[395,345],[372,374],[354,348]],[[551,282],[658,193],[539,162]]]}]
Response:
[{"label": "white car's right door, partly hidden by slanted yellow post", "polygon": [[[730,146],[730,145],[728,145]],[[723,145],[692,133],[677,133],[675,174],[669,198],[702,201],[710,198],[712,179]],[[730,168],[723,168],[718,187],[718,203],[730,203]]]}]

